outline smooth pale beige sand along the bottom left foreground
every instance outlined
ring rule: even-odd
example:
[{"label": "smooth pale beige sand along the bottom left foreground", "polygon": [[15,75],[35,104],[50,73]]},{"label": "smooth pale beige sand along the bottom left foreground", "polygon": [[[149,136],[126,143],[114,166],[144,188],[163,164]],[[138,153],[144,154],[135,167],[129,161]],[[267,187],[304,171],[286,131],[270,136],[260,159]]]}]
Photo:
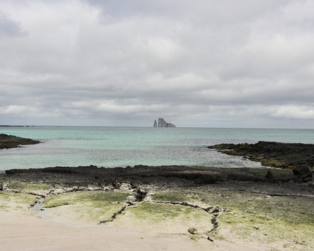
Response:
[{"label": "smooth pale beige sand along the bottom left foreground", "polygon": [[186,235],[82,224],[14,208],[1,211],[0,231],[1,250],[265,250],[256,243],[210,242],[205,237],[195,241]]}]

